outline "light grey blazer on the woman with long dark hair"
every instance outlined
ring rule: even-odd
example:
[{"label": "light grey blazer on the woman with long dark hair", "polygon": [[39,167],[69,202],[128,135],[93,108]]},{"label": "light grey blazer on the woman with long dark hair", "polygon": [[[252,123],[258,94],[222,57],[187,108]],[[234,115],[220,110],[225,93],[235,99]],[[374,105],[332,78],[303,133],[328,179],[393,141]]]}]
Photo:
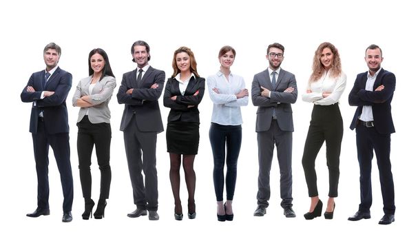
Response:
[{"label": "light grey blazer on the woman with long dark hair", "polygon": [[116,87],[116,79],[113,76],[105,76],[94,85],[92,94],[89,94],[90,83],[93,76],[81,79],[77,85],[76,92],[72,96],[72,105],[76,106],[77,99],[82,96],[89,96],[88,102],[92,103],[91,107],[81,107],[77,123],[87,114],[91,123],[110,123],[109,101],[112,98],[114,88]]}]

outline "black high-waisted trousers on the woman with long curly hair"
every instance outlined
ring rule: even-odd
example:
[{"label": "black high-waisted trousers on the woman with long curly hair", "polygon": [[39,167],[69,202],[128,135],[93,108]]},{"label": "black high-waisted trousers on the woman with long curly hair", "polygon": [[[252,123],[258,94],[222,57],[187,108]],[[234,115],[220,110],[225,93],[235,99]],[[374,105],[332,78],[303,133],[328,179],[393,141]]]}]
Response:
[{"label": "black high-waisted trousers on the woman with long curly hair", "polygon": [[315,159],[324,141],[326,143],[326,165],[328,166],[329,191],[328,196],[338,196],[339,154],[343,135],[342,117],[338,104],[314,105],[311,125],[302,157],[306,184],[310,197],[318,196]]}]

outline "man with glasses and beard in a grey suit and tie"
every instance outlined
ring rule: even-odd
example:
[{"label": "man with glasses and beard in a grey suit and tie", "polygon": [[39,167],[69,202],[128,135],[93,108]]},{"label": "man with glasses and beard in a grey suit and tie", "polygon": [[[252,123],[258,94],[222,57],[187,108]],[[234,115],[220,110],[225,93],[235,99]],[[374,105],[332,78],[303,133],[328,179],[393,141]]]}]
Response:
[{"label": "man with glasses and beard in a grey suit and tie", "polygon": [[292,132],[291,103],[297,99],[295,75],[282,70],[284,47],[273,43],[267,48],[269,68],[255,74],[251,97],[258,106],[255,132],[258,142],[258,207],[254,216],[264,216],[270,199],[270,169],[274,145],[280,167],[281,206],[286,218],[294,218],[292,209]]}]

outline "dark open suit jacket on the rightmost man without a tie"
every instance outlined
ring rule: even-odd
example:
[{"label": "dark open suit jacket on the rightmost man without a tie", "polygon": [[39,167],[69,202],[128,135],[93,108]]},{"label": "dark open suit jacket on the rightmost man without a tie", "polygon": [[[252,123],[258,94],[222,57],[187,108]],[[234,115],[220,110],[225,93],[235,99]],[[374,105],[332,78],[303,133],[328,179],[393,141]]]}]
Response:
[{"label": "dark open suit jacket on the rightmost man without a tie", "polygon": [[353,90],[348,95],[348,103],[357,106],[350,129],[356,127],[357,120],[362,114],[363,106],[371,105],[377,132],[380,134],[392,134],[395,132],[395,126],[393,125],[390,103],[392,102],[393,92],[395,92],[395,74],[382,68],[376,76],[373,90],[379,85],[384,85],[384,89],[382,91],[368,91],[365,90],[367,73],[357,74]]}]

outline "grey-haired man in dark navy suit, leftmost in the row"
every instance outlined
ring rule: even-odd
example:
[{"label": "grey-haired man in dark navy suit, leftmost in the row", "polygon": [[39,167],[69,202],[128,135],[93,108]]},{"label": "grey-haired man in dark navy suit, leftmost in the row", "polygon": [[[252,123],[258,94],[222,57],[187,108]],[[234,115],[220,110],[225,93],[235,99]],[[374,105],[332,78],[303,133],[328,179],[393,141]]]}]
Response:
[{"label": "grey-haired man in dark navy suit, leftmost in the row", "polygon": [[26,216],[37,218],[50,215],[50,187],[48,182],[48,151],[54,150],[56,165],[63,187],[63,222],[72,221],[72,199],[74,196],[70,163],[70,137],[65,100],[70,92],[72,75],[58,67],[61,48],[49,43],[43,49],[46,69],[30,76],[28,85],[21,93],[23,102],[32,102],[30,132],[32,133],[36,174],[38,176],[38,207]]}]

